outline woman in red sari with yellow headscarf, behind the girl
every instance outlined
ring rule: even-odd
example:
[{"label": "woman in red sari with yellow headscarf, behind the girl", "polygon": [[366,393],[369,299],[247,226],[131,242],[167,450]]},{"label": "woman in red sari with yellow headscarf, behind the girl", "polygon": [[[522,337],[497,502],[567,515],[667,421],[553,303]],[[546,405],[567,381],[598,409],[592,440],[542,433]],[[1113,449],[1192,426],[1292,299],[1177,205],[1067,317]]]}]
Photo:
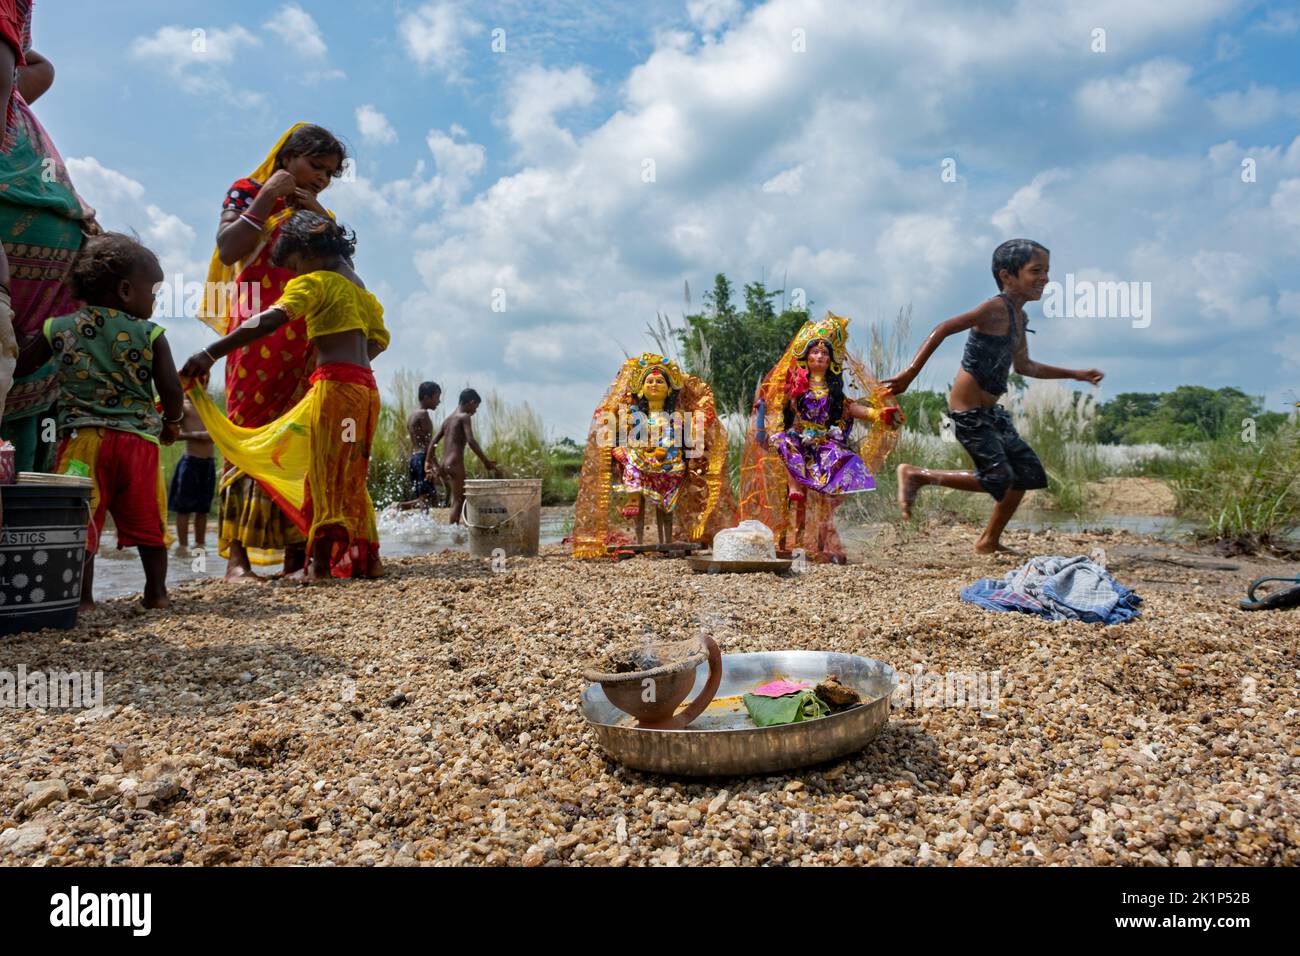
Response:
[{"label": "woman in red sari with yellow headscarf, behind the girl", "polygon": [[[343,172],[347,151],[329,131],[292,126],[248,177],[231,183],[221,209],[217,248],[208,272],[199,317],[226,336],[276,304],[294,277],[270,261],[281,225],[298,209],[332,216],[317,196]],[[316,367],[315,350],[299,317],[226,359],[226,414],[256,428],[280,418],[306,394]],[[252,564],[277,563],[285,571],[306,562],[303,533],[266,490],[228,468],[221,488],[220,553],[226,580],[252,579]]]}]

